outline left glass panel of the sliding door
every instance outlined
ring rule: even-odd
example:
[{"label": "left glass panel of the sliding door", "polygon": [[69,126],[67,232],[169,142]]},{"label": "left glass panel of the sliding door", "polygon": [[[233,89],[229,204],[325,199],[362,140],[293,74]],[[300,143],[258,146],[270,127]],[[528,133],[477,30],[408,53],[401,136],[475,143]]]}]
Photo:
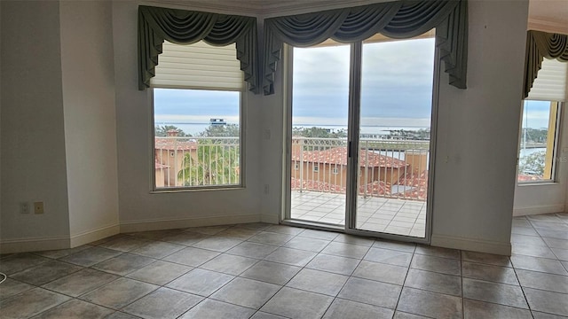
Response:
[{"label": "left glass panel of the sliding door", "polygon": [[350,45],[293,49],[288,219],[345,224]]}]

